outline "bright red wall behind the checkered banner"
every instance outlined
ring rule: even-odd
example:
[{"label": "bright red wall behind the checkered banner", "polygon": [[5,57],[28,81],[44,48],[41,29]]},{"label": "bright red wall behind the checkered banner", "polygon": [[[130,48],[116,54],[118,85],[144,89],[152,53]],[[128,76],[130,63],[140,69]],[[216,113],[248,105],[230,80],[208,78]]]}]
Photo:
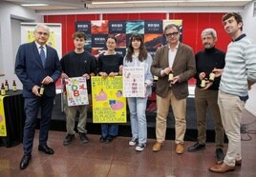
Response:
[{"label": "bright red wall behind the checkered banner", "polygon": [[[169,19],[181,19],[183,24],[183,43],[191,46],[195,52],[203,49],[201,32],[206,28],[217,31],[216,48],[226,50],[230,42],[222,24],[224,13],[169,13]],[[113,13],[103,14],[102,20],[163,20],[165,13]],[[75,21],[100,20],[99,14],[45,15],[45,23],[62,24],[62,54],[74,49],[72,34],[75,32]],[[190,81],[194,84],[194,81]]]}]

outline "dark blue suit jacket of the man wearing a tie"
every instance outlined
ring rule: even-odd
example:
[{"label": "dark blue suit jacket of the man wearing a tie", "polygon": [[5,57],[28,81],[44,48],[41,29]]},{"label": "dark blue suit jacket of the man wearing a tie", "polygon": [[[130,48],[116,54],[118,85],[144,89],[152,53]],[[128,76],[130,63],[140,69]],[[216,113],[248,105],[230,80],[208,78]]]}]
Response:
[{"label": "dark blue suit jacket of the man wearing a tie", "polygon": [[55,82],[60,77],[61,65],[56,50],[49,46],[46,46],[46,48],[45,68],[35,42],[23,44],[17,51],[15,72],[23,84],[24,97],[34,97],[32,87],[34,85],[40,87],[46,76],[52,77],[54,82],[45,86],[44,94],[49,97],[55,95]]}]

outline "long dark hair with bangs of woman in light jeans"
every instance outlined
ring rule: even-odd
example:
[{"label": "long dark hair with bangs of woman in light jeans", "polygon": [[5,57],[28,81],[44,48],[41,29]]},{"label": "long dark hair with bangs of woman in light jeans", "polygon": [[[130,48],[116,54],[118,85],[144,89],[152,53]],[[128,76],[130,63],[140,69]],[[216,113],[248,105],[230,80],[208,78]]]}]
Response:
[{"label": "long dark hair with bangs of woman in light jeans", "polygon": [[130,38],[130,42],[129,42],[129,48],[127,51],[127,55],[125,57],[126,61],[132,62],[133,58],[132,55],[134,53],[134,48],[132,46],[132,42],[138,40],[140,41],[140,47],[139,47],[139,61],[142,62],[143,60],[147,59],[147,50],[146,47],[144,45],[144,41],[142,39],[142,36],[139,34],[133,34]]}]

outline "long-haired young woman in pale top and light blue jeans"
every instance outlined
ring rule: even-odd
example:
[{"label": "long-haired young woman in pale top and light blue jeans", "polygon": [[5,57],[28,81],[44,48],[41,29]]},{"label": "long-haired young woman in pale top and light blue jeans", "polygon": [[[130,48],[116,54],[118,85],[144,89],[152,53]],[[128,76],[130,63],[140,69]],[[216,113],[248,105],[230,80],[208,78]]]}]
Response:
[{"label": "long-haired young woman in pale top and light blue jeans", "polygon": [[[147,120],[146,106],[147,97],[151,95],[153,75],[150,71],[152,57],[148,54],[142,36],[133,34],[130,38],[128,51],[123,60],[123,67],[142,68],[144,70],[144,97],[128,97],[128,106],[130,109],[130,121],[133,137],[129,142],[130,146],[136,147],[137,151],[142,151],[147,142]],[[137,80],[137,79],[136,79]],[[139,83],[138,83],[139,84]],[[141,84],[141,83],[140,83]]]}]

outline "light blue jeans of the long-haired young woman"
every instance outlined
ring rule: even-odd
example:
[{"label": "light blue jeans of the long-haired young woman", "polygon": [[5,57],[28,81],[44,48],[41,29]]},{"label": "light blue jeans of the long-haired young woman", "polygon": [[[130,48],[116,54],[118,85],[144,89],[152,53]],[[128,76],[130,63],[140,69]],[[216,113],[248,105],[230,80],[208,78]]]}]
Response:
[{"label": "light blue jeans of the long-haired young woman", "polygon": [[139,143],[147,142],[147,120],[146,107],[147,97],[145,98],[127,98],[130,109],[130,121],[133,137],[139,138]]}]

